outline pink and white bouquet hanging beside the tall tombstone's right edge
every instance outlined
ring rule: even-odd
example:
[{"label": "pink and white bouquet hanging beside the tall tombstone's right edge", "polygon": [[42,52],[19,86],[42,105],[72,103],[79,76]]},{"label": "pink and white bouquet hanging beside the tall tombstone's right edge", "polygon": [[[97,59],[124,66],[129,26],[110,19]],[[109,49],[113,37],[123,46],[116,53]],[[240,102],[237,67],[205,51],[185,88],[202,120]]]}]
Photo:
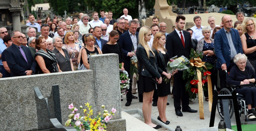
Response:
[{"label": "pink and white bouquet hanging beside the tall tombstone's right edge", "polygon": [[[119,64],[119,68],[122,68],[122,64]],[[130,85],[130,79],[128,77],[128,72],[127,71],[122,71],[119,70],[119,74],[120,74],[120,90],[121,90],[121,96],[122,95],[126,95]]]}]

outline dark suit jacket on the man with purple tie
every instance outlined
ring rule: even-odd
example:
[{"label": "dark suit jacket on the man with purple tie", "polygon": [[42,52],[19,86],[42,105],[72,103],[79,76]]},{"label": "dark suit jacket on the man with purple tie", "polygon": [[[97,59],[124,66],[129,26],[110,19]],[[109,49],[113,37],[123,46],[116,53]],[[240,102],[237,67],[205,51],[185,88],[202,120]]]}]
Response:
[{"label": "dark suit jacket on the man with purple tie", "polygon": [[24,76],[26,75],[25,71],[27,70],[35,72],[35,59],[32,57],[28,47],[23,45],[21,46],[24,50],[28,63],[21,54],[20,49],[17,48],[17,45],[12,44],[5,51],[5,59],[11,70],[11,77]]}]

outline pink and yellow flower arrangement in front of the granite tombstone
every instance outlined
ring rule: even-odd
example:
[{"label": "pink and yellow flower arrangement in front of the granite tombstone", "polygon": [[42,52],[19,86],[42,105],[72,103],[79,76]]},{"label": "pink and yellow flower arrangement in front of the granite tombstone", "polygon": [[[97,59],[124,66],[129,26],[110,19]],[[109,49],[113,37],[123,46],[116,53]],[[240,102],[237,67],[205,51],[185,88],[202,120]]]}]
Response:
[{"label": "pink and yellow flower arrangement in front of the granite tombstone", "polygon": [[112,115],[114,115],[116,109],[113,107],[111,112],[108,112],[105,106],[102,105],[103,113],[99,112],[97,117],[93,117],[93,109],[90,103],[85,103],[85,106],[87,108],[79,107],[84,112],[84,116],[80,116],[80,113],[77,113],[78,109],[71,103],[68,108],[71,109],[72,114],[69,115],[65,126],[73,126],[78,131],[106,131],[108,121],[113,118]]}]

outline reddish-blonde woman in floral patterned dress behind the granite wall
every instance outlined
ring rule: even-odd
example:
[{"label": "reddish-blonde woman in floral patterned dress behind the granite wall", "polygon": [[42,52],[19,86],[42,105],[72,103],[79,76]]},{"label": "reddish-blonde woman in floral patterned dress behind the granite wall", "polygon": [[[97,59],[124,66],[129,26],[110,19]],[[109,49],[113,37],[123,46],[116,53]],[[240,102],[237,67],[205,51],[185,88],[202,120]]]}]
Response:
[{"label": "reddish-blonde woman in floral patterned dress behind the granite wall", "polygon": [[63,45],[62,48],[67,49],[69,51],[69,56],[72,59],[72,63],[74,66],[74,70],[76,71],[78,68],[78,54],[80,47],[78,44],[75,44],[75,38],[73,32],[69,31],[65,35],[64,43],[66,45]]}]

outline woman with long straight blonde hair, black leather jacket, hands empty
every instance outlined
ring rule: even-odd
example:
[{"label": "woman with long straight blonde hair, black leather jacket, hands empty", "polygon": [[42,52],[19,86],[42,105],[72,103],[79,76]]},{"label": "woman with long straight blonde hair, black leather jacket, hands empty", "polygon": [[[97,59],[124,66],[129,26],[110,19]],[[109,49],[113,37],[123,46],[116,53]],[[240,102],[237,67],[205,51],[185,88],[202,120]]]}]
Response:
[{"label": "woman with long straight blonde hair, black leather jacket, hands empty", "polygon": [[[147,42],[151,39],[151,29],[143,26],[139,32],[139,45],[136,56],[139,61],[139,94],[143,94],[142,112],[145,123],[154,129],[161,128],[151,122],[152,99],[154,94],[155,83],[162,83],[162,77],[157,71],[155,63],[155,54],[148,46]],[[155,82],[155,83],[154,83]]]}]

